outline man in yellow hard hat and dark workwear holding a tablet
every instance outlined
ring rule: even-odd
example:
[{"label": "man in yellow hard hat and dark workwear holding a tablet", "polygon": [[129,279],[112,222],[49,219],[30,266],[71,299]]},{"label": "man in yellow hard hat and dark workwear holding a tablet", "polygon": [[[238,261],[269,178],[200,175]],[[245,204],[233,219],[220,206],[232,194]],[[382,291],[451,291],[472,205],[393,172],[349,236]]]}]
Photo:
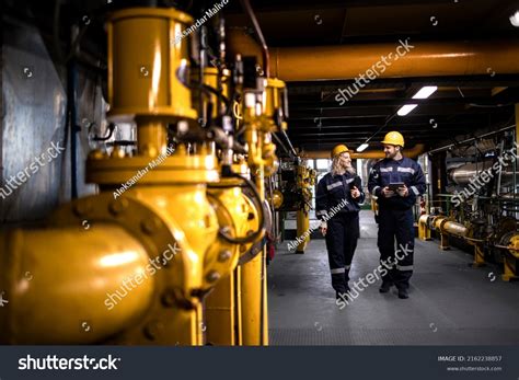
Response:
[{"label": "man in yellow hard hat and dark workwear holding a tablet", "polygon": [[379,291],[388,292],[395,285],[399,298],[406,299],[413,275],[413,205],[425,193],[426,184],[420,165],[402,156],[404,137],[400,133],[390,131],[382,143],[385,159],[373,165],[368,181],[368,189],[379,205],[380,261],[388,268]]}]

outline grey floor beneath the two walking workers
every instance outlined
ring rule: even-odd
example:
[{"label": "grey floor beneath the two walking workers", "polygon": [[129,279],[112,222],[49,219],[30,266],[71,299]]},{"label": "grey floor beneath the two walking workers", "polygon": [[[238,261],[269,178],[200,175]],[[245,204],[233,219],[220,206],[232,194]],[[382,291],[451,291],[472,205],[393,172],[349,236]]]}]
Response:
[{"label": "grey floor beneath the two walking workers", "polygon": [[[360,226],[353,280],[379,265],[371,211],[361,211]],[[416,239],[410,299],[399,299],[395,290],[379,293],[378,281],[339,310],[324,240],[311,241],[302,255],[289,253],[287,243],[268,267],[272,345],[519,343],[519,283],[504,283],[498,266],[471,267],[465,252]]]}]

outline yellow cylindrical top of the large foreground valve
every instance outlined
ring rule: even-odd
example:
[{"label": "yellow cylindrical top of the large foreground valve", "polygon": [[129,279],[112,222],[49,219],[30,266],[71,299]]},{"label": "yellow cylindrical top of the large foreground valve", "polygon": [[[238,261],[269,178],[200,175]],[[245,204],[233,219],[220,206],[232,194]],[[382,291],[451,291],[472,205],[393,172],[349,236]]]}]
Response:
[{"label": "yellow cylindrical top of the large foreground valve", "polygon": [[108,18],[109,116],[196,118],[181,81],[188,80],[188,38],[175,41],[192,24],[192,16],[175,9],[131,8]]}]

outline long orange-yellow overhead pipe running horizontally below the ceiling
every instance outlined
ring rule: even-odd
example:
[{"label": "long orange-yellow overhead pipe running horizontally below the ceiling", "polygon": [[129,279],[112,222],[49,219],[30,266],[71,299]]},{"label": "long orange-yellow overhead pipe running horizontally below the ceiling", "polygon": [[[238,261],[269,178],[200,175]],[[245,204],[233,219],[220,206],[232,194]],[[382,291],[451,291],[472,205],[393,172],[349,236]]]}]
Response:
[{"label": "long orange-yellow overhead pipe running horizontally below the ceiling", "polygon": [[[256,56],[262,62],[262,53],[257,43],[242,31],[234,30],[228,34],[230,51],[242,56]],[[309,47],[272,47],[270,76],[284,81],[312,81],[353,79],[373,67],[381,57],[390,65],[378,67],[379,78],[406,77],[446,77],[475,76],[494,72],[517,73],[519,65],[519,41],[484,42],[419,42],[407,41],[405,56],[395,58],[401,43],[309,46]],[[403,53],[405,49],[400,48]]]}]

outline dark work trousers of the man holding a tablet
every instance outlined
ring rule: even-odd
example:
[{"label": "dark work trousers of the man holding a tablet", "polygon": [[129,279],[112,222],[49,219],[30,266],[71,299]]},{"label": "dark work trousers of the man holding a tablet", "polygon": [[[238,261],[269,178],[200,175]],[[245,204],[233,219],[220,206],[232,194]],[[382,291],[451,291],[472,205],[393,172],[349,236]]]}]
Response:
[{"label": "dark work trousers of the man holding a tablet", "polygon": [[415,244],[413,223],[412,209],[379,210],[380,263],[382,265],[385,263],[384,266],[388,269],[388,274],[382,276],[382,280],[394,284],[399,289],[408,289],[410,278],[413,275]]}]

